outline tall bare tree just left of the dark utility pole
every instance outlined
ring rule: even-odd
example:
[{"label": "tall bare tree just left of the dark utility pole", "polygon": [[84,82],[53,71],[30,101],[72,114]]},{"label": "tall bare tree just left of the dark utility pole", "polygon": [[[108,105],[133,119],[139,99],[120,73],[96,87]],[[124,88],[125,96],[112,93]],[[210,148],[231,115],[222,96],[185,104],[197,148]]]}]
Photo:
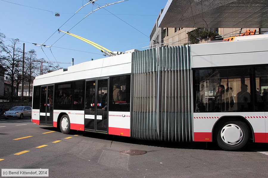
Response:
[{"label": "tall bare tree just left of the dark utility pole", "polygon": [[14,94],[14,82],[18,80],[20,60],[22,56],[22,51],[17,45],[19,44],[19,39],[11,39],[10,44],[1,46],[2,53],[5,55],[0,56],[0,64],[7,70],[5,73],[11,80],[11,95]]}]

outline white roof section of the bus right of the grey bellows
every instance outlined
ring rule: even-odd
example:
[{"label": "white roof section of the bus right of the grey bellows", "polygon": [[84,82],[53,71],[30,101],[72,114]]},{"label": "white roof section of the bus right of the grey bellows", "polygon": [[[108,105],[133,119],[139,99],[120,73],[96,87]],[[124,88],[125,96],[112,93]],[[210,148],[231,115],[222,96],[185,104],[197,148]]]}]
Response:
[{"label": "white roof section of the bus right of the grey bellows", "polygon": [[266,34],[258,36],[257,38],[241,36],[239,40],[232,42],[191,45],[191,67],[267,64],[268,36]]}]

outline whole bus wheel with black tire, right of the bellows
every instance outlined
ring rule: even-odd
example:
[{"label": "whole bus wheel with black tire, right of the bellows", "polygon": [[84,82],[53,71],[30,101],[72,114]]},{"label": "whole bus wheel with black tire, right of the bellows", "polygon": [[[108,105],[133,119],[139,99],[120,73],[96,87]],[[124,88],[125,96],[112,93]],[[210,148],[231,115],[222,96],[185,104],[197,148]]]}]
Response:
[{"label": "whole bus wheel with black tire, right of the bellows", "polygon": [[247,146],[250,131],[241,121],[227,121],[217,129],[217,144],[226,151],[239,151]]}]

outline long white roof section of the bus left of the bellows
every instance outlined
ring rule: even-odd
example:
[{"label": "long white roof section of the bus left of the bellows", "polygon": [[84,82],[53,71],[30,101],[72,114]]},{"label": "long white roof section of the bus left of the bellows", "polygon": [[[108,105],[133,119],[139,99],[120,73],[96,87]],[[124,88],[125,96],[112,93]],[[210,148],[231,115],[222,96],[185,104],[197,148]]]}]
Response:
[{"label": "long white roof section of the bus left of the bellows", "polygon": [[87,61],[35,77],[34,85],[67,82],[131,73],[132,53]]}]

